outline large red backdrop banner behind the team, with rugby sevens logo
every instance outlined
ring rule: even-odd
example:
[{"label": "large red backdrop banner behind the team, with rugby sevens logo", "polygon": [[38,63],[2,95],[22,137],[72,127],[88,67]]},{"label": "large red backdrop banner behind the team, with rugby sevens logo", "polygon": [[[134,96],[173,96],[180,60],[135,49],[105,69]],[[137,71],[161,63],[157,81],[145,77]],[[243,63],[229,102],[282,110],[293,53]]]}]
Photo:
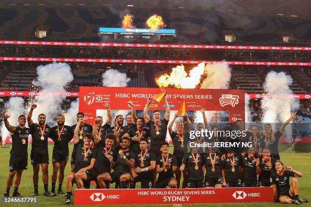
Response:
[{"label": "large red backdrop banner behind the team, with rugby sevens logo", "polygon": [[[171,110],[178,110],[185,100],[185,108],[190,111],[199,110],[202,106],[208,111],[229,111],[229,121],[244,122],[244,90],[222,89],[177,89],[167,88],[166,98]],[[105,110],[105,103],[110,108],[130,110],[127,102],[132,100],[136,110],[143,110],[147,98],[162,91],[159,88],[120,88],[120,87],[80,87],[79,111],[86,111],[95,117],[96,110]],[[164,100],[154,100],[149,110],[165,110]]]}]

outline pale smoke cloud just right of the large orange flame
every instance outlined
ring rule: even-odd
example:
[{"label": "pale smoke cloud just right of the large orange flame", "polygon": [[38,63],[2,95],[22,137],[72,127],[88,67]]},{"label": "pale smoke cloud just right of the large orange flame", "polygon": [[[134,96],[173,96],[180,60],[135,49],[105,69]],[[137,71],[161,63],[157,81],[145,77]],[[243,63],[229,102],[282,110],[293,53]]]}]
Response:
[{"label": "pale smoke cloud just right of the large orange flame", "polygon": [[231,68],[228,64],[208,64],[204,70],[207,76],[201,83],[202,89],[228,89],[231,79]]}]

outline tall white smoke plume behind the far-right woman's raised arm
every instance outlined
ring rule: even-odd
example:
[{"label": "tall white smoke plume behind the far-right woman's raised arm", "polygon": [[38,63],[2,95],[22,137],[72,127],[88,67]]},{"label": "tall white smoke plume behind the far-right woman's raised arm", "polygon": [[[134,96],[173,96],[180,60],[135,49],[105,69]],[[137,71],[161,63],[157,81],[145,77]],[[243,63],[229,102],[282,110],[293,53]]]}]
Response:
[{"label": "tall white smoke plume behind the far-right woman's raised arm", "polygon": [[263,85],[266,96],[261,100],[262,122],[285,122],[291,112],[299,108],[299,100],[290,97],[293,94],[289,87],[292,83],[292,77],[284,72],[271,71],[267,74]]}]

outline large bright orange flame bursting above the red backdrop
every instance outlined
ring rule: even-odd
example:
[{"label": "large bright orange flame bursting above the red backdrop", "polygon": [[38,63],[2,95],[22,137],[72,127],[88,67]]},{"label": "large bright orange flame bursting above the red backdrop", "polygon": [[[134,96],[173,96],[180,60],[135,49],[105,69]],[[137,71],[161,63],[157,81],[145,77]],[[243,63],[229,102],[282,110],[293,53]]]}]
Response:
[{"label": "large bright orange flame bursting above the red backdrop", "polygon": [[200,83],[201,75],[204,73],[205,63],[201,62],[198,66],[192,68],[189,75],[184,70],[183,65],[177,65],[172,68],[170,75],[164,74],[155,79],[158,86],[168,87],[169,85],[175,88],[195,88]]}]

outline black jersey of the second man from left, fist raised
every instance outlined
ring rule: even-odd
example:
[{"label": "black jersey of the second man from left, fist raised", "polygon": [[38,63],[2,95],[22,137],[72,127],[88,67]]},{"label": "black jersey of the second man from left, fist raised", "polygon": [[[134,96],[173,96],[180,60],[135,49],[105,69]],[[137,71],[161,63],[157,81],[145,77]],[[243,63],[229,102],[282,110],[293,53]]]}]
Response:
[{"label": "black jersey of the second man from left, fist raised", "polygon": [[[33,123],[33,125],[29,127],[29,129],[30,129],[30,133],[32,134],[32,139],[33,139],[32,151],[40,152],[40,153],[43,151],[47,152],[48,151],[48,136],[51,131],[51,127],[45,124],[45,128],[44,128],[44,126],[41,127],[39,126],[39,124]],[[42,137],[41,130],[43,132],[43,140],[41,140],[41,137]]]}]

